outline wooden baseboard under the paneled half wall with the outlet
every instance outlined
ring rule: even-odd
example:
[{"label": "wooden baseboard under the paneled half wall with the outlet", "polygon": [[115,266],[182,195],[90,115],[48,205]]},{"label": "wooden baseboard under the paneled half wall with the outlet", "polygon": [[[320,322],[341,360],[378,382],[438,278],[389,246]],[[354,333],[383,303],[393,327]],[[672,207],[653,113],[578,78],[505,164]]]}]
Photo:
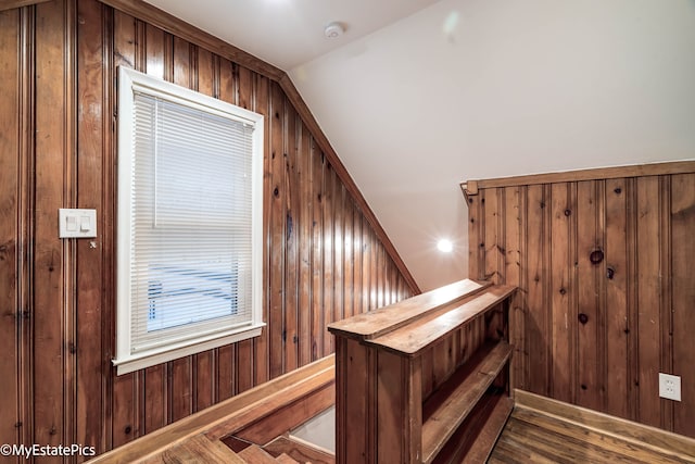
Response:
[{"label": "wooden baseboard under the paneled half wall with the outlet", "polygon": [[686,461],[695,460],[695,440],[632,421],[515,390],[516,407],[527,409]]}]

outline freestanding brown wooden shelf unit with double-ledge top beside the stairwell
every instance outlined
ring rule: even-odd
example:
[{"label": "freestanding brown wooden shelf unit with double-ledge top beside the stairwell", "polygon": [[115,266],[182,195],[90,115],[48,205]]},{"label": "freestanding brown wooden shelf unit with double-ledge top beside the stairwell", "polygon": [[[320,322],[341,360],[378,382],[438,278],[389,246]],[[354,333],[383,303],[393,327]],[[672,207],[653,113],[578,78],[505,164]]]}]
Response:
[{"label": "freestanding brown wooden shelf unit with double-ledge top beside the stairwell", "polygon": [[337,462],[484,462],[513,405],[515,289],[466,279],[329,325]]}]

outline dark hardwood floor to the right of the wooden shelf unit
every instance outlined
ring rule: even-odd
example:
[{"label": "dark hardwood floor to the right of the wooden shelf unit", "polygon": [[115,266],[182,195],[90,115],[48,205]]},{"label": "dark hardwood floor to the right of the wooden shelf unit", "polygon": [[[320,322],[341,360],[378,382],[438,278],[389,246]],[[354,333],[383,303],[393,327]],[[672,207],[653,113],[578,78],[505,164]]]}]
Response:
[{"label": "dark hardwood floor to the right of the wooden shelf unit", "polygon": [[566,417],[561,411],[548,414],[517,404],[488,462],[695,463],[695,440],[672,443],[673,437],[667,432],[656,432],[655,438],[622,435],[619,423],[609,430],[602,430],[596,423]]}]

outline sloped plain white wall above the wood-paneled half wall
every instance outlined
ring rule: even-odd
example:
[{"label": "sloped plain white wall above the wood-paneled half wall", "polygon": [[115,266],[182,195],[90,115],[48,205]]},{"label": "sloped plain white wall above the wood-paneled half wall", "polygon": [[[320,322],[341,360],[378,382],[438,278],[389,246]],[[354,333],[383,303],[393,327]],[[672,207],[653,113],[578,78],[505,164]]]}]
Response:
[{"label": "sloped plain white wall above the wood-paneled half wall", "polygon": [[424,289],[462,180],[695,158],[695,0],[441,0],[290,75]]}]

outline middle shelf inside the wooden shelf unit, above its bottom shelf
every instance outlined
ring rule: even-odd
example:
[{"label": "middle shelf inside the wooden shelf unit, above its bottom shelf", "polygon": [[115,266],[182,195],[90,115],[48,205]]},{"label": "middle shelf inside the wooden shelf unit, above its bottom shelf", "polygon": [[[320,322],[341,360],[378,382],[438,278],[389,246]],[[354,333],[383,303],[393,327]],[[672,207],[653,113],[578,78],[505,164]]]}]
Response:
[{"label": "middle shelf inside the wooden shelf unit, above its bottom shelf", "polygon": [[505,342],[483,346],[422,405],[422,462],[431,463],[511,355]]}]

